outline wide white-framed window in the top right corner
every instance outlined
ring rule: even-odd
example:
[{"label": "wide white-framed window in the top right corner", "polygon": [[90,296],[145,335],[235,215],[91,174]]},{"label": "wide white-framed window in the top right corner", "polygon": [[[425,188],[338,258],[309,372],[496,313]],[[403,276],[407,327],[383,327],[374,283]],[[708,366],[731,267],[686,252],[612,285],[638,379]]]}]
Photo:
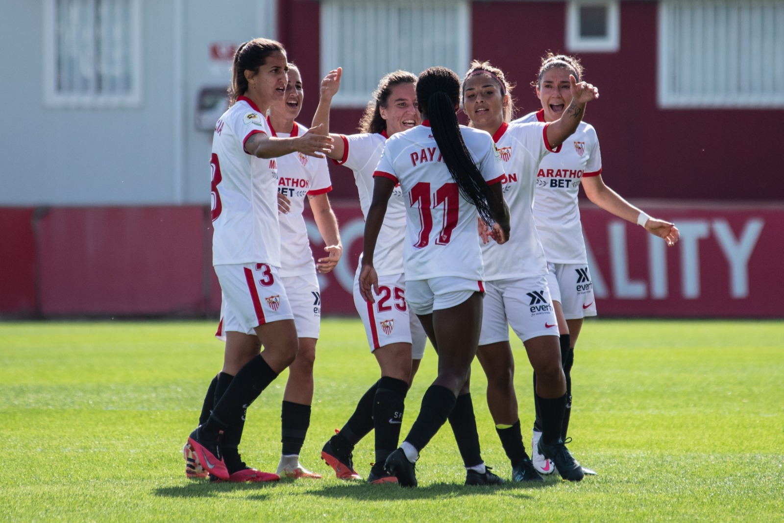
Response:
[{"label": "wide white-framed window in the top right corner", "polygon": [[784,106],[784,2],[661,2],[659,105]]}]

